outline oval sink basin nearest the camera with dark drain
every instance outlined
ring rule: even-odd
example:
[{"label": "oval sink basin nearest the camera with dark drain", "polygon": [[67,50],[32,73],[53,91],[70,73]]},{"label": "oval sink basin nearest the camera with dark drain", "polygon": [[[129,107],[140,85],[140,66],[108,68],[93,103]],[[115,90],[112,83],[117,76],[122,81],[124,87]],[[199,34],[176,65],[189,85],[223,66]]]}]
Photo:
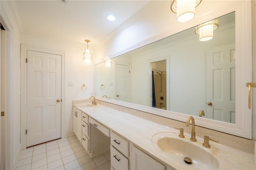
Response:
[{"label": "oval sink basin nearest the camera with dark drain", "polygon": [[[217,148],[205,148],[202,146],[203,141],[190,141],[190,136],[185,138],[178,137],[177,133],[160,132],[152,136],[152,144],[158,147],[159,151],[185,169],[235,169],[232,160]],[[192,160],[191,164],[186,163],[184,158]],[[227,164],[226,164],[227,163]]]}]

